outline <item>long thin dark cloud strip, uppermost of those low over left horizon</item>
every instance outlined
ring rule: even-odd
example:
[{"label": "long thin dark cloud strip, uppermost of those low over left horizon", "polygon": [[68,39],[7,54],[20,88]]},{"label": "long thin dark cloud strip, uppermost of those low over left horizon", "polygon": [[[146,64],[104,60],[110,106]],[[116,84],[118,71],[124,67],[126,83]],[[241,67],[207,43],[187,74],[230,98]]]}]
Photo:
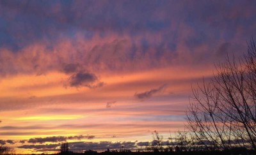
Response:
[{"label": "long thin dark cloud strip, uppermost of those low over left horizon", "polygon": [[28,140],[28,143],[33,143],[33,144],[36,144],[36,143],[39,143],[39,144],[43,144],[45,142],[65,142],[67,140],[81,140],[81,139],[93,139],[95,138],[95,136],[93,135],[86,135],[86,136],[83,136],[83,135],[79,135],[79,136],[70,136],[70,137],[63,137],[63,136],[58,136],[58,137],[45,137],[45,138],[30,138]]}]

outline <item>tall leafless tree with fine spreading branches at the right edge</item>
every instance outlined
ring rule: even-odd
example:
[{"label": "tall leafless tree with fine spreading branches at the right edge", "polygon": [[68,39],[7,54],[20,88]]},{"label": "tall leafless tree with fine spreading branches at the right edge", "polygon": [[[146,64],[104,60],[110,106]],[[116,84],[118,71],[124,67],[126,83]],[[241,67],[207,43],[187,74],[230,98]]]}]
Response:
[{"label": "tall leafless tree with fine spreading branches at the right edge", "polygon": [[187,112],[188,128],[207,149],[256,150],[256,48],[216,66],[210,82],[198,85]]}]

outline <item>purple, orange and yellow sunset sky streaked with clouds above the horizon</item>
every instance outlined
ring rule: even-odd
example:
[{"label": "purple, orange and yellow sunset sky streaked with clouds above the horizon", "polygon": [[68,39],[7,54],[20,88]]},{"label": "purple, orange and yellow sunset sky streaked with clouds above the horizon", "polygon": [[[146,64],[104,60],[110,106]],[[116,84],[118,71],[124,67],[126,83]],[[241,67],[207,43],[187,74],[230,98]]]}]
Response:
[{"label": "purple, orange and yellow sunset sky streaked with clouds above the horizon", "polygon": [[184,131],[191,87],[246,52],[256,1],[0,1],[0,144],[138,149]]}]

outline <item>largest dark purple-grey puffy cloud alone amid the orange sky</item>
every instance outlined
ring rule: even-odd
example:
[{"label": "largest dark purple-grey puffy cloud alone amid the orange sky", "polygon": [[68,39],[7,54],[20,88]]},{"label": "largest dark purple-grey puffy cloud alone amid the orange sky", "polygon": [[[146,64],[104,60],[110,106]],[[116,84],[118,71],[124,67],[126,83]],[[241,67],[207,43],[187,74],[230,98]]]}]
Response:
[{"label": "largest dark purple-grey puffy cloud alone amid the orange sky", "polygon": [[99,79],[96,77],[95,74],[89,72],[78,72],[74,73],[69,78],[69,85],[70,87],[101,87],[104,83],[99,82]]}]

